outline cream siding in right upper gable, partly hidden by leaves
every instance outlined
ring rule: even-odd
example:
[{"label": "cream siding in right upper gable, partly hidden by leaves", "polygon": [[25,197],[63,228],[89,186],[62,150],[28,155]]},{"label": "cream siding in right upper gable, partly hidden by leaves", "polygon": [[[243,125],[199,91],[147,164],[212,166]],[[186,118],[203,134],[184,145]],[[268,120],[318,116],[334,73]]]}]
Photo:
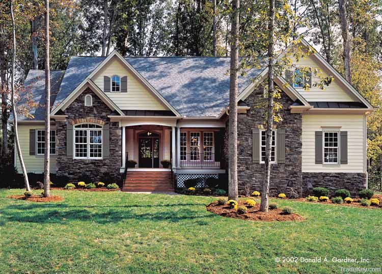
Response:
[{"label": "cream siding in right upper gable, partly hidden by leaves", "polygon": [[[311,67],[312,71],[314,68],[322,70],[322,77],[327,77],[328,74],[325,73],[324,68],[319,67],[319,65],[308,56],[305,60],[299,60],[298,62],[295,58],[291,58],[292,63],[296,66],[301,67]],[[312,72],[312,86],[314,83],[318,83],[320,78]],[[296,88],[296,90],[308,101],[308,102],[353,102],[354,100],[344,91],[342,87],[338,84],[339,80],[334,79],[332,84],[325,87],[325,90],[320,90],[317,87],[312,87],[309,91],[305,91],[302,88]],[[341,84],[342,85],[342,84]]]}]

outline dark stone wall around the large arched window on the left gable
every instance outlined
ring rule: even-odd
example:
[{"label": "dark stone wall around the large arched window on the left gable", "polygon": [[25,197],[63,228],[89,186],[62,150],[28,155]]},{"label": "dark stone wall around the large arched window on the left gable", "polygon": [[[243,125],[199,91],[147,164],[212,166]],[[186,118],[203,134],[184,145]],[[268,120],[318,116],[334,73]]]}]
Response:
[{"label": "dark stone wall around the large arched window on the left gable", "polygon": [[[84,105],[86,94],[93,96],[93,106]],[[85,176],[92,181],[113,181],[120,182],[121,160],[121,128],[118,122],[110,122],[107,115],[112,114],[112,110],[91,90],[86,89],[79,95],[69,107],[64,111],[68,118],[65,122],[56,122],[57,134],[57,175],[68,176],[70,182],[78,182]],[[110,158],[108,159],[73,159],[66,156],[66,128],[69,123],[74,124],[79,121],[109,123],[110,124]]]}]

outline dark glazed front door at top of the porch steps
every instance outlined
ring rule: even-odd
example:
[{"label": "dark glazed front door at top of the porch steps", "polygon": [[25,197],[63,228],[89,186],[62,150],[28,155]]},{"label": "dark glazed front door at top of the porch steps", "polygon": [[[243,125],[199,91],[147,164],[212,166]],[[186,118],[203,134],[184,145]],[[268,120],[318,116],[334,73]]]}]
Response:
[{"label": "dark glazed front door at top of the porch steps", "polygon": [[159,138],[156,136],[140,136],[138,142],[138,166],[140,168],[159,168]]}]

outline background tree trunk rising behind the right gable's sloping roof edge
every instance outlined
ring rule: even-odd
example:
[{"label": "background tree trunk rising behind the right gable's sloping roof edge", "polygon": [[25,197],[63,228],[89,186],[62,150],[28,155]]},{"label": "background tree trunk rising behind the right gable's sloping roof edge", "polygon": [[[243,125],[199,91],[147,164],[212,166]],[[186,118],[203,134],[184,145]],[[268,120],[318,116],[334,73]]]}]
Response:
[{"label": "background tree trunk rising behind the right gable's sloping roof edge", "polygon": [[341,23],[341,34],[343,40],[343,64],[345,68],[345,79],[351,83],[351,73],[350,73],[350,35],[349,35],[349,24],[347,22],[346,14],[346,2],[345,0],[338,0],[339,10],[340,10],[340,23]]}]

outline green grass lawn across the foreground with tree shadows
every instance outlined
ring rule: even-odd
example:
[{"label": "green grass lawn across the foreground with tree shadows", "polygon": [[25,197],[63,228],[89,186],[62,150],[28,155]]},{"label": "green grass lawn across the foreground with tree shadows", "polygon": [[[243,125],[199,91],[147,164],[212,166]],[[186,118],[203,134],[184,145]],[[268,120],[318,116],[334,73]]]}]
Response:
[{"label": "green grass lawn across the foreground with tree shadows", "polygon": [[382,266],[380,209],[277,200],[307,220],[267,223],[207,212],[213,197],[52,192],[65,201],[11,200],[5,197],[23,191],[0,190],[0,273],[339,273],[341,266]]}]

